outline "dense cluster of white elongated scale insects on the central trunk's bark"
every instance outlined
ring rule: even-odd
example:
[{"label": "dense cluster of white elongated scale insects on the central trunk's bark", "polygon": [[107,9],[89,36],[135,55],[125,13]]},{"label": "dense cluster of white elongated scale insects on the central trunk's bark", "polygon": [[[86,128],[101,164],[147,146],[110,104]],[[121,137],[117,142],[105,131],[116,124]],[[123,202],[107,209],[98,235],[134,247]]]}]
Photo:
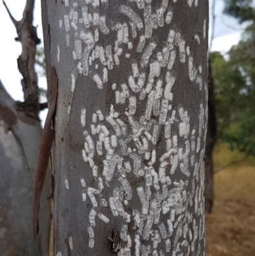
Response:
[{"label": "dense cluster of white elongated scale insects on the central trunk's bark", "polygon": [[[80,125],[84,128],[82,157],[98,184],[89,187],[88,181],[80,179],[80,197],[83,202],[90,200],[92,206],[87,223],[90,248],[99,243],[94,234],[98,222],[110,227],[113,218],[122,219],[119,256],[131,255],[131,248],[136,256],[149,253],[157,256],[165,252],[177,256],[184,251],[189,255],[205,233],[201,143],[205,143],[207,107],[200,103],[196,112],[199,123],[193,127],[190,113],[182,105],[173,107],[173,87],[177,86],[175,63],[187,66],[185,75],[196,91],[207,95],[207,85],[199,75],[203,70],[201,64],[194,61],[186,36],[178,27],[171,26],[177,0],[173,3],[162,0],[156,10],[152,8],[152,1],[156,0],[129,0],[120,4],[120,15],[129,21],[110,25],[99,11],[100,5],[108,4],[107,0],[65,0],[69,13],[59,20],[59,29],[66,32],[66,47],[71,48],[69,34],[75,34],[70,50],[73,60],[77,61],[78,73],[89,76],[100,90],[110,86],[115,96],[115,104],[108,112],[98,109],[92,113],[91,120],[86,109],[80,110]],[[187,0],[187,4],[196,8],[198,0]],[[143,15],[135,11],[135,5]],[[206,22],[201,24],[203,36],[194,34],[197,45],[206,38]],[[168,27],[163,46],[153,38],[154,31],[162,27]],[[115,35],[115,40],[102,45],[101,38],[110,33]],[[139,56],[137,59],[131,57],[134,51]],[[59,46],[57,61],[61,61]],[[123,61],[129,61],[131,72],[122,82],[109,84],[112,70],[119,68]],[[73,73],[70,80],[73,93],[76,83]],[[136,115],[143,100],[146,108]],[[115,110],[119,104],[126,107],[125,112]],[[164,144],[164,152],[160,154],[156,147],[159,137]],[[103,169],[94,162],[96,154]],[[137,187],[131,183],[136,179],[142,180]],[[68,179],[65,186],[69,189]],[[112,194],[104,198],[105,190],[111,186],[114,186]],[[134,197],[139,205],[131,205]],[[110,208],[111,216],[105,207]],[[194,213],[189,209],[194,209]],[[133,239],[129,233],[130,222],[134,223]],[[69,248],[73,250],[71,236]]]}]

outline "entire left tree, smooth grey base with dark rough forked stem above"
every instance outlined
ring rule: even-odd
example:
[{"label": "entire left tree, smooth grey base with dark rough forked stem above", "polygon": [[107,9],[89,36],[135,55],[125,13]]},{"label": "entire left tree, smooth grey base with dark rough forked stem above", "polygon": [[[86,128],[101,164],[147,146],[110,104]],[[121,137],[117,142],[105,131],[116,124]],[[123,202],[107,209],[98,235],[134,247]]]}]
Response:
[{"label": "entire left tree, smooth grey base with dark rough forked stem above", "polygon": [[41,142],[38,118],[41,104],[38,102],[39,89],[34,71],[36,45],[40,40],[33,26],[34,0],[26,1],[19,21],[11,15],[6,3],[3,4],[17,29],[15,40],[22,46],[17,62],[23,77],[24,102],[15,102],[0,81],[0,255],[47,256],[49,177],[41,197],[41,225],[37,241],[33,237],[33,186]]}]

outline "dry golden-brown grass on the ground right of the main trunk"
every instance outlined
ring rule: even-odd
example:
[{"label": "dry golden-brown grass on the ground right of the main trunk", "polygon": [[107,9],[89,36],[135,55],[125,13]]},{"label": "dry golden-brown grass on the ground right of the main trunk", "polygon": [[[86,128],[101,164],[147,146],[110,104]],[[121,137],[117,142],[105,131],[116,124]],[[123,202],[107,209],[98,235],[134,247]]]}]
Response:
[{"label": "dry golden-brown grass on the ground right of the main trunk", "polygon": [[[226,146],[215,149],[215,166],[242,158]],[[214,209],[206,216],[208,256],[255,256],[255,160],[215,174]]]}]

